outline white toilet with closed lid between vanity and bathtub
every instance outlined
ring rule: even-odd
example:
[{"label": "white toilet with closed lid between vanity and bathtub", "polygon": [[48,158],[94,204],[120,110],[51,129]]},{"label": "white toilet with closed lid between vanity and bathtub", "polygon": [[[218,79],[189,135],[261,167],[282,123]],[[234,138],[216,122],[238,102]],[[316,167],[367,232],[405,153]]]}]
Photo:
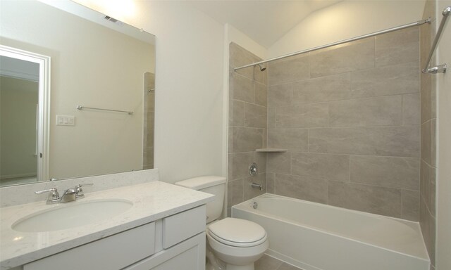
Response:
[{"label": "white toilet with closed lid between vanity and bathtub", "polygon": [[254,262],[269,247],[266,231],[245,219],[228,217],[216,221],[223,210],[226,178],[202,176],[175,184],[216,195],[214,201],[206,204],[206,253],[212,269],[226,266],[227,270],[254,270]]}]

